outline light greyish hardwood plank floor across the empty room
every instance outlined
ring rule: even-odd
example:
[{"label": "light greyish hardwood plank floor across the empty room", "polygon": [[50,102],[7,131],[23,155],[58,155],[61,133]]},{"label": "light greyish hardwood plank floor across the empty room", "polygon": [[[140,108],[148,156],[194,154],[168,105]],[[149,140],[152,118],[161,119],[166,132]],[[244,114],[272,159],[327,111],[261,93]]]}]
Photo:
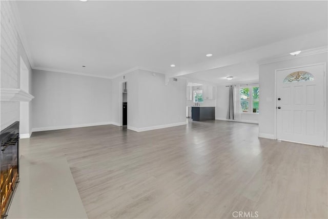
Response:
[{"label": "light greyish hardwood plank floor across the empty room", "polygon": [[258,138],[255,124],[33,133],[20,153],[66,157],[89,218],[327,218],[327,148]]}]

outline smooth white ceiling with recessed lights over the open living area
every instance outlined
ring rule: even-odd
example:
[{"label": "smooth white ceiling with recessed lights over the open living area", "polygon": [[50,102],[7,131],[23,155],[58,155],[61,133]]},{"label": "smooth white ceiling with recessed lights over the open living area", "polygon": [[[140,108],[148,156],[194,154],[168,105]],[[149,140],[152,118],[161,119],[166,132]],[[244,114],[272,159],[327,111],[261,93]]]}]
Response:
[{"label": "smooth white ceiling with recessed lights over the open living area", "polygon": [[[327,29],[326,1],[17,1],[17,6],[32,67],[108,77],[136,66],[171,74],[203,71],[209,68],[199,67],[202,63]],[[190,76],[212,81],[243,71],[240,79],[258,78],[258,72],[252,74],[256,61]]]}]

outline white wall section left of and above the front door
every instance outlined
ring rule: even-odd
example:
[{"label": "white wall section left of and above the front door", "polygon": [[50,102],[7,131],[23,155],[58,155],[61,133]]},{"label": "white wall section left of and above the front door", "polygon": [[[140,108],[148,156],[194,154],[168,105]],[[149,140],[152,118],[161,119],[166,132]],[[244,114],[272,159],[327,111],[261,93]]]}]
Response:
[{"label": "white wall section left of and above the front door", "polygon": [[327,62],[327,54],[295,57],[293,59],[259,66],[260,116],[259,135],[274,138],[275,70]]}]

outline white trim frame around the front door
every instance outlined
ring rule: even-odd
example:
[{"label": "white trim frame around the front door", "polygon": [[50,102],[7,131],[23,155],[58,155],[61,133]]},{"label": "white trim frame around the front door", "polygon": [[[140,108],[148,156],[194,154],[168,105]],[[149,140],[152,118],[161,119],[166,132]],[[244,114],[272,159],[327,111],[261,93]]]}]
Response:
[{"label": "white trim frame around the front door", "polygon": [[[328,117],[328,111],[327,111],[327,75],[326,75],[326,69],[327,69],[327,63],[316,63],[316,64],[310,64],[310,65],[303,65],[303,66],[295,66],[290,68],[282,68],[282,69],[276,69],[275,70],[275,129],[274,129],[274,139],[277,140],[277,71],[282,70],[289,70],[289,69],[295,69],[295,68],[304,68],[304,67],[311,67],[311,66],[320,66],[323,67],[323,119],[325,121],[324,125],[324,131],[323,131],[323,144],[325,144],[325,147],[328,147],[328,140],[327,140],[327,117]],[[302,143],[305,144],[305,143]]]}]

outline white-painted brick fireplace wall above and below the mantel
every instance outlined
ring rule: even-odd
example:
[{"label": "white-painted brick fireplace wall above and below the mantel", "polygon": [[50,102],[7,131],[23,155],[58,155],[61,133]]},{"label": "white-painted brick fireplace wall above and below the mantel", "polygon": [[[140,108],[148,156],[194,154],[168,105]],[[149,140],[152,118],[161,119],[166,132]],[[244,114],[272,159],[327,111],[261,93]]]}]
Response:
[{"label": "white-painted brick fireplace wall above and below the mantel", "polygon": [[[17,19],[15,16],[14,1],[0,1],[1,4],[1,88],[19,88],[20,56],[22,56],[29,73],[30,63],[17,33]],[[31,84],[31,77],[29,75]],[[32,105],[27,104],[31,112]],[[29,112],[29,113],[30,113]],[[19,121],[19,102],[1,103],[1,130]],[[31,116],[31,115],[30,115]],[[28,118],[29,119],[29,118]],[[26,127],[28,133],[31,124]]]}]

